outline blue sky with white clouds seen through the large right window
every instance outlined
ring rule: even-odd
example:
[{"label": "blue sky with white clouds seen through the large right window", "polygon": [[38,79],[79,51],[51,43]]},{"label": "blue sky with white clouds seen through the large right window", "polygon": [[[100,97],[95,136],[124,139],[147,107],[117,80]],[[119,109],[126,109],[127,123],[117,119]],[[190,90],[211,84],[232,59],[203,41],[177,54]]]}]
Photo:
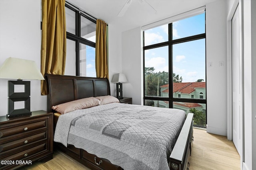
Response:
[{"label": "blue sky with white clouds seen through the large right window", "polygon": [[[205,14],[173,23],[173,39],[205,33]],[[145,46],[168,41],[168,24],[144,31]],[[182,82],[206,80],[205,39],[173,45],[173,72]],[[145,51],[145,67],[168,72],[168,46]]]}]

